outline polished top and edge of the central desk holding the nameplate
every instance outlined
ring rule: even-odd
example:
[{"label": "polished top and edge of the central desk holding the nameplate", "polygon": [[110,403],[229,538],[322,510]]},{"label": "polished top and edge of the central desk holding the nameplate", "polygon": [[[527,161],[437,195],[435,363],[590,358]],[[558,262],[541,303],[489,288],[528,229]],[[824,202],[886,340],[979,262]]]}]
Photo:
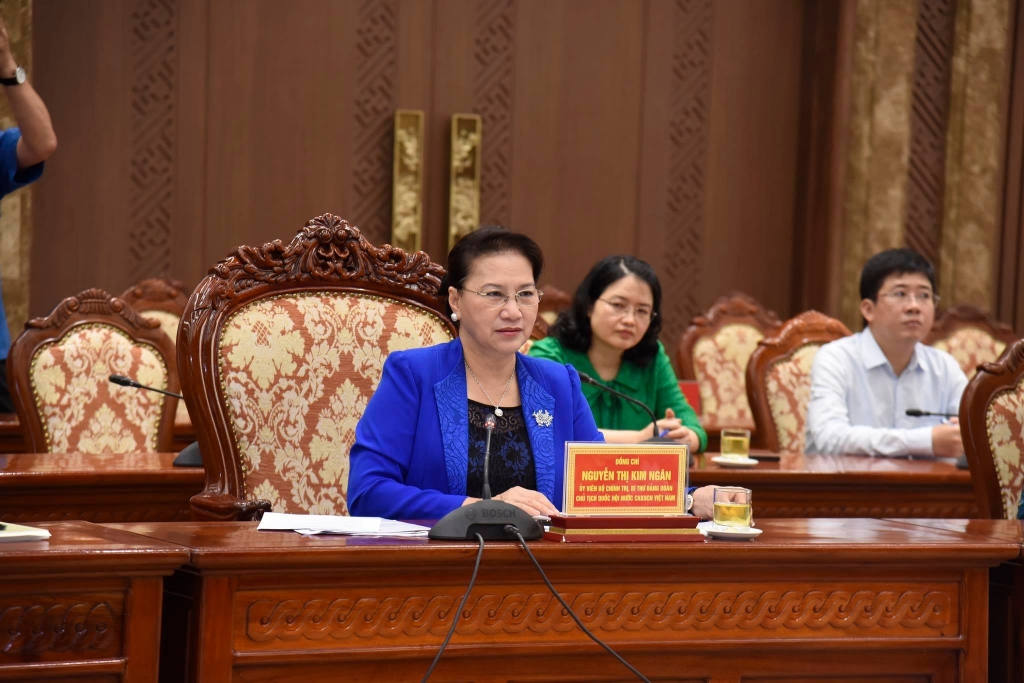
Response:
[{"label": "polished top and edge of the central desk holding the nameplate", "polygon": [[[766,519],[759,523],[765,533],[753,541],[715,541],[706,543],[630,543],[630,544],[558,544],[538,541],[529,544],[538,560],[547,566],[579,564],[581,561],[604,564],[608,567],[625,564],[644,563],[666,564],[678,568],[681,560],[687,566],[722,564],[735,560],[751,561],[757,556],[759,562],[774,560],[781,565],[802,566],[839,565],[934,565],[936,562],[948,564],[951,559],[957,566],[990,567],[1020,555],[1021,544],[1004,539],[970,538],[890,523],[889,536],[918,537],[908,543],[906,538],[891,538],[877,542],[836,541],[821,537],[818,542],[771,543],[774,530],[784,533],[786,526],[813,521],[817,523],[842,522],[862,526],[878,523],[877,519]],[[438,542],[426,539],[395,538],[304,538],[289,531],[255,531],[256,522],[150,522],[106,524],[147,539],[165,541],[190,549],[189,565],[200,570],[230,570],[253,566],[253,557],[259,557],[261,569],[340,568],[358,569],[379,567],[383,561],[394,568],[435,568],[451,566],[454,560],[471,562],[477,545],[470,542]],[[205,527],[205,529],[204,529]],[[218,528],[219,527],[219,528]],[[220,531],[268,535],[265,539],[226,539],[221,545],[205,545],[202,536],[189,535],[196,529],[206,537]],[[887,529],[882,529],[883,531]],[[280,536],[279,536],[280,535]],[[288,536],[290,535],[290,536]],[[276,536],[276,538],[274,538]],[[900,549],[899,561],[893,560],[893,547]],[[529,563],[519,544],[514,542],[492,542],[484,548],[484,560],[488,563],[501,562],[517,564]]]}]

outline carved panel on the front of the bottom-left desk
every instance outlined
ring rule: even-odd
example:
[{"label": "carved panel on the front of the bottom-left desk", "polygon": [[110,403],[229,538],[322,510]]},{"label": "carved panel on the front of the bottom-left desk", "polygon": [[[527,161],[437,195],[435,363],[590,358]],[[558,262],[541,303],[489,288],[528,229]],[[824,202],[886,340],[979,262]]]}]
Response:
[{"label": "carved panel on the front of the bottom-left desk", "polygon": [[60,596],[38,596],[36,602],[26,602],[27,597],[15,597],[23,604],[0,602],[0,661],[45,651],[88,651],[96,657],[121,653],[121,604],[81,595],[65,602]]}]

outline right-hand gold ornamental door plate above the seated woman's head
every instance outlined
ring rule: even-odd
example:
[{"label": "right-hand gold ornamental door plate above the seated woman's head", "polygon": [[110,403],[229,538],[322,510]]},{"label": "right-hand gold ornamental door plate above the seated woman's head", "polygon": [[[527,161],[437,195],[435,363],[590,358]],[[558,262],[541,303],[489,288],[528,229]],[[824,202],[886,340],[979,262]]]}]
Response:
[{"label": "right-hand gold ornamental door plate above the seated woman's head", "polygon": [[449,189],[449,249],[480,224],[480,146],[483,120],[452,117],[452,178]]}]

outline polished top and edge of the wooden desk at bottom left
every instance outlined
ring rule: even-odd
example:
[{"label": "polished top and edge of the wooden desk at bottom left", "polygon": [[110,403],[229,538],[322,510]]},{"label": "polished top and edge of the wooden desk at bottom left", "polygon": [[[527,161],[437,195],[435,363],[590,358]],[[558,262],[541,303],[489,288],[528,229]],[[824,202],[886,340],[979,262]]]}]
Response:
[{"label": "polished top and edge of the wooden desk at bottom left", "polygon": [[[43,541],[0,543],[0,575],[102,571],[108,575],[168,575],[188,563],[187,548],[87,521],[40,522],[52,535]],[[103,544],[108,544],[105,547]]]}]

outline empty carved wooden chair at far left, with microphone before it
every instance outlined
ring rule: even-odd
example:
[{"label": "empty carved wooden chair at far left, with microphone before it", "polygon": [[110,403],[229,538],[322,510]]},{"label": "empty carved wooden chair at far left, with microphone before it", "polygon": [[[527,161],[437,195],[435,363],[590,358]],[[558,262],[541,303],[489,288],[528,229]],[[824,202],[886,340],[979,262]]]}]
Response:
[{"label": "empty carved wooden chair at far left, with microphone before it", "polygon": [[156,321],[98,289],[29,321],[7,376],[32,452],[170,451],[177,399],[112,384],[111,375],[178,390],[174,347]]}]

